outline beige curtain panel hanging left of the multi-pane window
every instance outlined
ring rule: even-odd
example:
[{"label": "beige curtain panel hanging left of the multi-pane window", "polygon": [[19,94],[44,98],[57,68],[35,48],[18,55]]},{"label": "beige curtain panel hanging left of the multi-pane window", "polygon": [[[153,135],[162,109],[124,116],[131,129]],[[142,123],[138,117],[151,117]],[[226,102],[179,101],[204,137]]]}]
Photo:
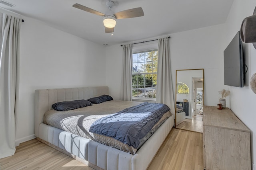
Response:
[{"label": "beige curtain panel hanging left of the multi-pane window", "polygon": [[123,47],[121,100],[132,101],[132,44]]}]

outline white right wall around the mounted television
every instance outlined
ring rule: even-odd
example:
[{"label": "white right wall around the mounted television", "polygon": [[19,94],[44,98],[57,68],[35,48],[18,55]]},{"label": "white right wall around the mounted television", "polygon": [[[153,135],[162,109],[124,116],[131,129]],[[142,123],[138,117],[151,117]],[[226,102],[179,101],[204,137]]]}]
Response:
[{"label": "white right wall around the mounted television", "polygon": [[[224,41],[224,49],[228,46],[234,35],[240,30],[242,20],[251,16],[256,6],[255,0],[234,0],[225,27],[226,38]],[[250,77],[256,72],[256,49],[252,44],[244,44],[244,54],[248,65],[248,77],[246,84],[249,84]],[[252,163],[256,164],[256,114],[255,101],[256,94],[252,92],[250,86],[244,88],[226,86],[230,90],[230,109],[239,117],[239,119],[251,131],[251,155]]]}]

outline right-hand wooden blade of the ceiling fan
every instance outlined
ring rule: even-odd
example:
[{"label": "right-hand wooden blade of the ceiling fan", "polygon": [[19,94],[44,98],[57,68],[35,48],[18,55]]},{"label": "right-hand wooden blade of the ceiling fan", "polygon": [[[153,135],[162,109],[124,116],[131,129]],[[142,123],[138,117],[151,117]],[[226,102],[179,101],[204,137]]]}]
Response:
[{"label": "right-hand wooden blade of the ceiling fan", "polygon": [[141,7],[139,8],[133,8],[130,10],[124,10],[117,12],[114,14],[116,19],[124,19],[124,18],[135,18],[135,17],[141,17],[144,16],[144,12]]}]

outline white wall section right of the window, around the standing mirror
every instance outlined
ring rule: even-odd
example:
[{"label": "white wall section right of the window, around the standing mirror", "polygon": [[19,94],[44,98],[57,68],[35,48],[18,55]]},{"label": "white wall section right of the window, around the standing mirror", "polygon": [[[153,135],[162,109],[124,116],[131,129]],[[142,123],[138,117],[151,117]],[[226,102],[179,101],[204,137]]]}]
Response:
[{"label": "white wall section right of the window, around the standing mirror", "polygon": [[204,68],[204,104],[217,106],[224,88],[224,24],[174,33],[170,39],[173,87],[175,70]]}]

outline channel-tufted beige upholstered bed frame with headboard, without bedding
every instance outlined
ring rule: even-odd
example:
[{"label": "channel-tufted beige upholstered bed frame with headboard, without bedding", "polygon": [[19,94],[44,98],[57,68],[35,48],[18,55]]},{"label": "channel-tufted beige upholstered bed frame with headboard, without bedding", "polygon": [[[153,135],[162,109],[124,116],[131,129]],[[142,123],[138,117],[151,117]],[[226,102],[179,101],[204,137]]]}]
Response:
[{"label": "channel-tufted beige upholstered bed frame with headboard, without bedding", "polygon": [[[76,134],[46,125],[44,114],[56,102],[89,99],[108,94],[107,86],[41,89],[35,91],[35,135],[39,141],[98,170],[146,170],[174,125],[173,115],[134,153],[124,152]],[[91,107],[91,106],[89,106]]]}]

